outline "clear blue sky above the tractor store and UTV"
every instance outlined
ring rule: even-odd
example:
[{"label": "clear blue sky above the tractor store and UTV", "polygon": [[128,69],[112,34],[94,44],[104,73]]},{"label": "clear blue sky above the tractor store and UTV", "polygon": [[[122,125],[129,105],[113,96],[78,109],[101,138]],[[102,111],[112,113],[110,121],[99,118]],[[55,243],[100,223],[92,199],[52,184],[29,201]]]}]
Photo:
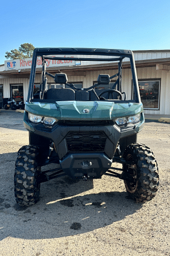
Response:
[{"label": "clear blue sky above the tractor store and UTV", "polygon": [[1,2],[0,64],[20,44],[130,50],[170,49],[170,1]]}]

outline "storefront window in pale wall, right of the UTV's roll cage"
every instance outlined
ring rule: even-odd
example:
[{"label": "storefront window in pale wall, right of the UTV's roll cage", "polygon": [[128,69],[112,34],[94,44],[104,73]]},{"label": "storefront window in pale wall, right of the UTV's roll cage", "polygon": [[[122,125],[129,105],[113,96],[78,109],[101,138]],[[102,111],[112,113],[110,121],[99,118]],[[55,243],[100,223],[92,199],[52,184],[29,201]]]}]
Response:
[{"label": "storefront window in pale wall, right of the UTV's roll cage", "polygon": [[139,92],[144,109],[159,109],[160,80],[139,80]]}]

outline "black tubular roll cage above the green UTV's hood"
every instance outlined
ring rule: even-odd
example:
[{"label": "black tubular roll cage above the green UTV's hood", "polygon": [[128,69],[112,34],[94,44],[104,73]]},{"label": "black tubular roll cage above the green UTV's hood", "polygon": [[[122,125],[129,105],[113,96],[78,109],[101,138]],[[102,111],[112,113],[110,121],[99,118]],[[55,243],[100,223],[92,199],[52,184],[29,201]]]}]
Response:
[{"label": "black tubular roll cage above the green UTV's hood", "polygon": [[[73,55],[73,54],[78,56],[77,57],[65,56],[65,55]],[[64,57],[62,57],[61,55],[63,55]],[[87,57],[84,57],[84,55]],[[133,52],[131,52],[130,50],[121,50],[121,49],[95,49],[95,48],[35,48],[33,52],[31,75],[29,80],[29,90],[28,90],[28,98],[27,98],[28,102],[31,102],[33,99],[33,85],[35,81],[36,61],[38,56],[42,58],[42,83],[40,86],[42,98],[43,98],[44,92],[48,90],[46,76],[55,78],[54,75],[46,71],[47,59],[48,60],[106,61],[106,62],[116,61],[118,63],[118,73],[109,77],[109,79],[111,80],[114,77],[117,77],[117,80],[116,82],[114,82],[111,89],[114,90],[117,86],[117,90],[120,93],[122,93],[122,88],[121,88],[122,60],[124,60],[125,57],[127,57],[130,60],[130,65],[131,65],[131,74],[132,74],[133,85],[134,85],[134,102],[136,103],[141,102]],[[94,57],[94,56],[102,56],[102,57]],[[73,90],[92,90],[96,88],[99,84],[101,84],[101,82],[98,81],[97,84],[94,84],[88,88],[81,88],[81,89],[76,88],[74,84],[67,83],[67,81],[65,81],[65,84]]]}]

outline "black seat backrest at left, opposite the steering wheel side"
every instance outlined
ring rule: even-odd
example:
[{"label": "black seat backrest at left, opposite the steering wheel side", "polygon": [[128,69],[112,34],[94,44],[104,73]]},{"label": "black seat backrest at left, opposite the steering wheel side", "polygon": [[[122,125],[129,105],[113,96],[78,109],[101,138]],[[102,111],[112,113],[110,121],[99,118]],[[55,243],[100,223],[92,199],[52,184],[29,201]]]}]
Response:
[{"label": "black seat backrest at left, opposite the steering wheel side", "polygon": [[46,92],[47,100],[74,101],[75,92],[71,88],[51,88]]}]

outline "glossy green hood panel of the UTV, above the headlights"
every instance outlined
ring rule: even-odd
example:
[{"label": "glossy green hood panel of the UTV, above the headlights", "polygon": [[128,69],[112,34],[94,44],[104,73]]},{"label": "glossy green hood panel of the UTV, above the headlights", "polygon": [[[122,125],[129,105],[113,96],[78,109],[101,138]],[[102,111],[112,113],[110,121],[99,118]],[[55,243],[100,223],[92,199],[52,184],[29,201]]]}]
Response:
[{"label": "glossy green hood panel of the UTV, above the headlights", "polygon": [[143,105],[107,101],[26,102],[25,111],[61,120],[111,120],[141,113]]}]

